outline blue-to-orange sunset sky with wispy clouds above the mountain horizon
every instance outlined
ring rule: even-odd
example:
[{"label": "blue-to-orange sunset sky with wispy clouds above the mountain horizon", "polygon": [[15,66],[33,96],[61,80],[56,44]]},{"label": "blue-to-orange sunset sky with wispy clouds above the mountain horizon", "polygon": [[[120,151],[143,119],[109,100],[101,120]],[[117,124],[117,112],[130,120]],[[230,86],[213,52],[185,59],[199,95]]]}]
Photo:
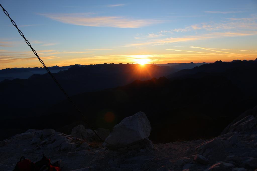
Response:
[{"label": "blue-to-orange sunset sky with wispy clouds above the mountain horizon", "polygon": [[[257,58],[257,1],[2,0],[47,66]],[[0,69],[42,67],[0,11]]]}]

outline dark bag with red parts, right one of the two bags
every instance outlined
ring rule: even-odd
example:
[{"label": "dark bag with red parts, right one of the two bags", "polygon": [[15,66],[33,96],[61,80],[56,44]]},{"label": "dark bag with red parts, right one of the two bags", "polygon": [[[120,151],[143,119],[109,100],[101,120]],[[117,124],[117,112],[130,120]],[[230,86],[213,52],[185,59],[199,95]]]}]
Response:
[{"label": "dark bag with red parts, right one of the two bags", "polygon": [[58,167],[58,166],[53,166],[51,163],[50,163],[50,159],[49,158],[46,158],[44,155],[43,155],[43,158],[36,162],[35,163],[35,171],[61,171],[61,168]]}]

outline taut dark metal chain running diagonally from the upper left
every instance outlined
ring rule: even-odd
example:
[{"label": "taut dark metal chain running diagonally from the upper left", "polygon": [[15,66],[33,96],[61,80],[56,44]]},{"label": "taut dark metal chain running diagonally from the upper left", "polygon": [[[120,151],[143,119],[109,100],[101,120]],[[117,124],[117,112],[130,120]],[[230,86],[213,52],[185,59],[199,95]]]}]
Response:
[{"label": "taut dark metal chain running diagonally from the upper left", "polygon": [[86,123],[93,129],[94,133],[97,135],[97,137],[102,141],[102,138],[95,132],[94,127],[88,122],[88,120],[86,119],[85,115],[79,110],[79,108],[76,106],[76,104],[71,100],[71,98],[68,96],[68,94],[65,92],[65,90],[62,88],[62,86],[58,83],[58,81],[56,80],[56,78],[53,76],[53,74],[50,72],[50,70],[47,68],[47,66],[44,64],[44,62],[42,61],[42,59],[38,56],[38,54],[36,53],[35,49],[33,49],[33,47],[31,46],[31,44],[29,43],[29,41],[24,37],[24,34],[21,32],[21,30],[17,27],[16,23],[12,20],[12,18],[10,17],[10,15],[8,14],[8,12],[4,9],[4,7],[0,4],[0,6],[2,7],[4,13],[6,14],[7,17],[10,18],[12,24],[14,25],[14,27],[17,28],[18,32],[20,33],[20,35],[24,38],[25,42],[27,43],[27,45],[31,48],[32,52],[36,55],[36,57],[39,59],[40,63],[44,66],[44,68],[47,70],[48,74],[50,74],[50,76],[53,78],[54,82],[58,85],[58,87],[62,90],[62,92],[65,94],[65,96],[68,98],[68,100],[72,103],[72,105],[77,109],[77,111],[84,117]]}]

